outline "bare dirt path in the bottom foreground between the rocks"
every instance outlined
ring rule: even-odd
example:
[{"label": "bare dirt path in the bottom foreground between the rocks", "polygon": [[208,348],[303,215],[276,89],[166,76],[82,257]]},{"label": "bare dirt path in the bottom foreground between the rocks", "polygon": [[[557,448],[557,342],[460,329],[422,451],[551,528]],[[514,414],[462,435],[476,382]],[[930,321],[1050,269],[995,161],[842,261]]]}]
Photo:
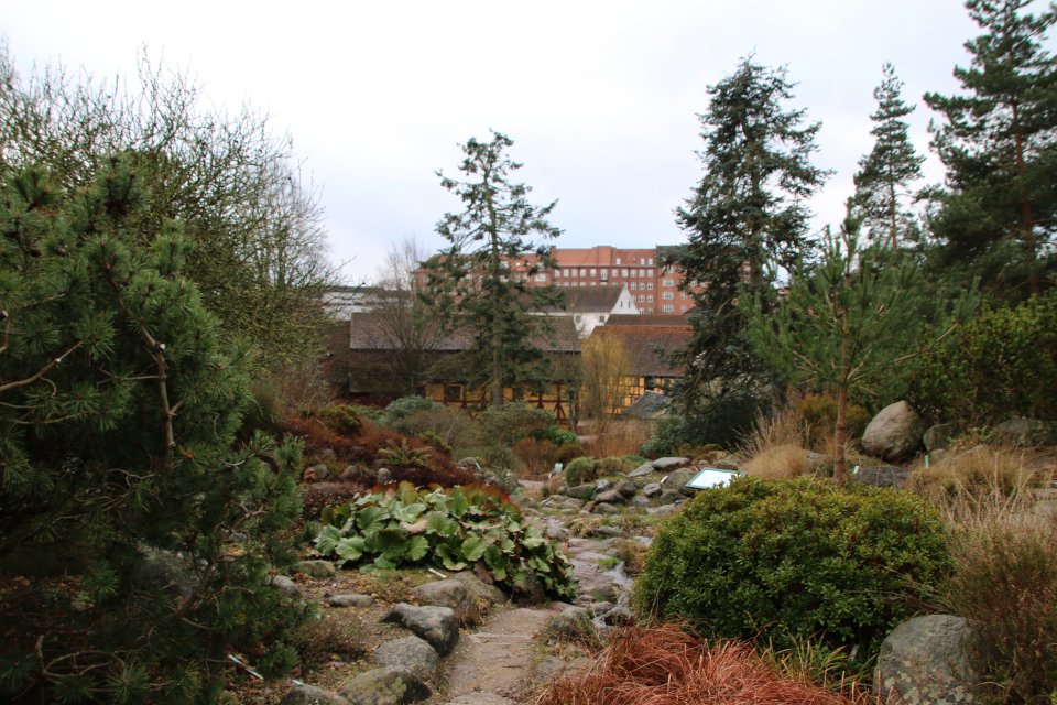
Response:
[{"label": "bare dirt path in the bottom foreground between the rocks", "polygon": [[435,702],[506,705],[516,697],[533,665],[533,638],[558,612],[510,608],[493,614],[476,632],[464,633],[447,662],[447,687]]}]

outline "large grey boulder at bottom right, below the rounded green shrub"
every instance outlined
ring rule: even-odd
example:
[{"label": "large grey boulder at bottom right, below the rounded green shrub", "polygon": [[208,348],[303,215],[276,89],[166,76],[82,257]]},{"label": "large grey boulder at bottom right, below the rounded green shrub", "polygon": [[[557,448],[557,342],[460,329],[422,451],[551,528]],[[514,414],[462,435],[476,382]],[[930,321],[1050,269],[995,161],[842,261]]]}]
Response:
[{"label": "large grey boulder at bottom right, below the rounded green shrub", "polygon": [[[971,705],[966,620],[927,615],[905,621],[881,644],[874,690],[882,703]],[[895,695],[895,697],[893,697]]]}]

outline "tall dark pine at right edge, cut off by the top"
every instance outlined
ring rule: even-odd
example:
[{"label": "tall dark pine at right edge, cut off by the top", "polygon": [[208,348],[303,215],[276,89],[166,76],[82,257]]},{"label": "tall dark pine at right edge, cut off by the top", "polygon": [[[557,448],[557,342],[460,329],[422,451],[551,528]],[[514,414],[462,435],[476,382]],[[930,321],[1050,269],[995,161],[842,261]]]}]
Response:
[{"label": "tall dark pine at right edge, cut off by the top", "polygon": [[1057,70],[1043,48],[1057,4],[1038,15],[1029,0],[969,0],[985,31],[966,43],[969,68],[955,68],[965,94],[929,93],[940,113],[933,147],[945,187],[926,192],[947,263],[965,263],[1005,294],[1036,293],[1053,276],[1057,232]]}]

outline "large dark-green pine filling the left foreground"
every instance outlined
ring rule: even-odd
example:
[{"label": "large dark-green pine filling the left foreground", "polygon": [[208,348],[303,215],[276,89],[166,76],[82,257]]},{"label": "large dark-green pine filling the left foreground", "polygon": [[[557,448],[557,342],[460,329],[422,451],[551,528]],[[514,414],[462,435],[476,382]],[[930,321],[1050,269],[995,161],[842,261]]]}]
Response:
[{"label": "large dark-green pine filling the left foreground", "polygon": [[124,163],[74,194],[4,176],[0,566],[37,577],[0,596],[0,695],[211,703],[229,649],[288,670],[310,609],[269,572],[293,557],[299,446],[236,443],[248,351],[183,276],[188,239],[131,245]]}]

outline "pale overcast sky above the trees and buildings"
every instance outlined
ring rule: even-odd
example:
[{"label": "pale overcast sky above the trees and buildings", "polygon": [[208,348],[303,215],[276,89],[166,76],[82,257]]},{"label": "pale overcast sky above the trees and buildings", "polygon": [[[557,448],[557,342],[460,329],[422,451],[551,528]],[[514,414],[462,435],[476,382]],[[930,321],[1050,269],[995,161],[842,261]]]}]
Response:
[{"label": "pale overcast sky above the trees and buildings", "polygon": [[[145,46],[213,101],[269,111],[323,186],[330,257],[350,283],[402,238],[443,245],[433,229],[460,204],[435,172],[455,175],[459,143],[489,128],[514,140],[532,199],[559,200],[559,247],[685,241],[672,210],[702,174],[696,113],[751,52],[786,65],[799,84],[789,107],[822,122],[816,163],[837,173],[811,206],[816,227],[837,224],[872,147],[882,64],[918,106],[925,152],[922,94],[957,90],[951,70],[980,33],[954,0],[53,0],[4,3],[0,32],[23,74],[61,59],[134,76]],[[926,172],[941,177],[934,158]]]}]

